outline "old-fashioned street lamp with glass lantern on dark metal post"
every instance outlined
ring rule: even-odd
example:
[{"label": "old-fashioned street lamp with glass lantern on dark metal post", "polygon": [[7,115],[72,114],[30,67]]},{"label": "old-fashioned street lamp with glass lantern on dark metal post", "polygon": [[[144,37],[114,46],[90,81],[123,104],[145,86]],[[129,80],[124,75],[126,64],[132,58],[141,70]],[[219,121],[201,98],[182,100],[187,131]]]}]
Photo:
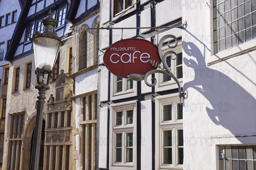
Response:
[{"label": "old-fashioned street lamp with glass lantern on dark metal post", "polygon": [[[44,32],[38,33],[38,31],[36,31],[32,38],[29,37],[29,40],[33,42],[34,46],[35,74],[38,82],[35,88],[38,89],[39,94],[37,96],[38,101],[30,170],[38,170],[43,121],[42,114],[46,99],[45,91],[50,89],[49,79],[51,78],[52,68],[60,47],[65,43],[61,41],[56,33],[53,33],[53,28],[57,25],[57,22],[52,18],[51,10],[47,17],[42,20],[42,23],[44,24]],[[45,74],[47,74],[46,83],[44,83]]]}]

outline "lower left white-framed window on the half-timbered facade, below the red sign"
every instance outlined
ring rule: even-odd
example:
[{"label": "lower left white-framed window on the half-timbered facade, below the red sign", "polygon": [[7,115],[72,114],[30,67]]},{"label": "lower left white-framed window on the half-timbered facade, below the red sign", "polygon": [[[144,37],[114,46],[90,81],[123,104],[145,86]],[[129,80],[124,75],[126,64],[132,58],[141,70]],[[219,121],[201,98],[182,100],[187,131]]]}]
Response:
[{"label": "lower left white-framed window on the half-timbered facade, below the red sign", "polygon": [[135,167],[136,158],[136,117],[135,104],[120,105],[113,108],[113,150],[112,166]]}]

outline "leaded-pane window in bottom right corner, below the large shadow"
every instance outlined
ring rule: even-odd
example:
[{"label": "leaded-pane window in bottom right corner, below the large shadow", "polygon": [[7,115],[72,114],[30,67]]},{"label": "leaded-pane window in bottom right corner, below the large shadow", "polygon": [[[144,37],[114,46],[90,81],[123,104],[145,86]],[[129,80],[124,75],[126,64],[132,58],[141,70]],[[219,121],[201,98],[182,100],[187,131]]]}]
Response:
[{"label": "leaded-pane window in bottom right corner, below the large shadow", "polygon": [[256,170],[256,145],[219,146],[219,166],[220,170]]}]

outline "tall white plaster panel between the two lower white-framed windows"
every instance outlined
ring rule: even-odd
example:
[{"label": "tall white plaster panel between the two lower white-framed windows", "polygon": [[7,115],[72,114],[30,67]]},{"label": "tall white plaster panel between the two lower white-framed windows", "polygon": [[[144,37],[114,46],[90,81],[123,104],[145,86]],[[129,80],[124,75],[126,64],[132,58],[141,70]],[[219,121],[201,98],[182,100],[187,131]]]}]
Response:
[{"label": "tall white plaster panel between the two lower white-framed windows", "polygon": [[141,169],[152,169],[151,100],[141,102]]}]

